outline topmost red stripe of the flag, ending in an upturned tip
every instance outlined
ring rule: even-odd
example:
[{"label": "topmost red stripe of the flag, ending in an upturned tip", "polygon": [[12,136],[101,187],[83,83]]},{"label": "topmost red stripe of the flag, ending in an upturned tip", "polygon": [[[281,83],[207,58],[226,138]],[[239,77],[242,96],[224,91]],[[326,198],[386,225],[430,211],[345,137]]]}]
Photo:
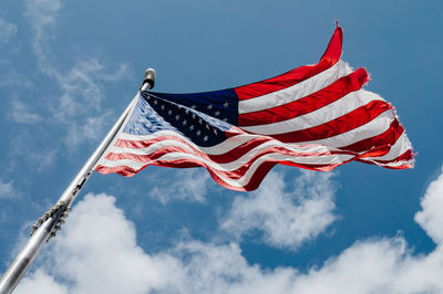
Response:
[{"label": "topmost red stripe of the flag, ending in an upturned tip", "polygon": [[262,96],[298,84],[318,73],[321,73],[322,71],[328,70],[340,60],[342,39],[342,30],[337,25],[336,31],[333,32],[333,35],[329,42],[328,49],[321,56],[319,63],[315,65],[300,66],[276,77],[237,87],[235,88],[235,92],[237,93],[238,98],[243,101]]}]

